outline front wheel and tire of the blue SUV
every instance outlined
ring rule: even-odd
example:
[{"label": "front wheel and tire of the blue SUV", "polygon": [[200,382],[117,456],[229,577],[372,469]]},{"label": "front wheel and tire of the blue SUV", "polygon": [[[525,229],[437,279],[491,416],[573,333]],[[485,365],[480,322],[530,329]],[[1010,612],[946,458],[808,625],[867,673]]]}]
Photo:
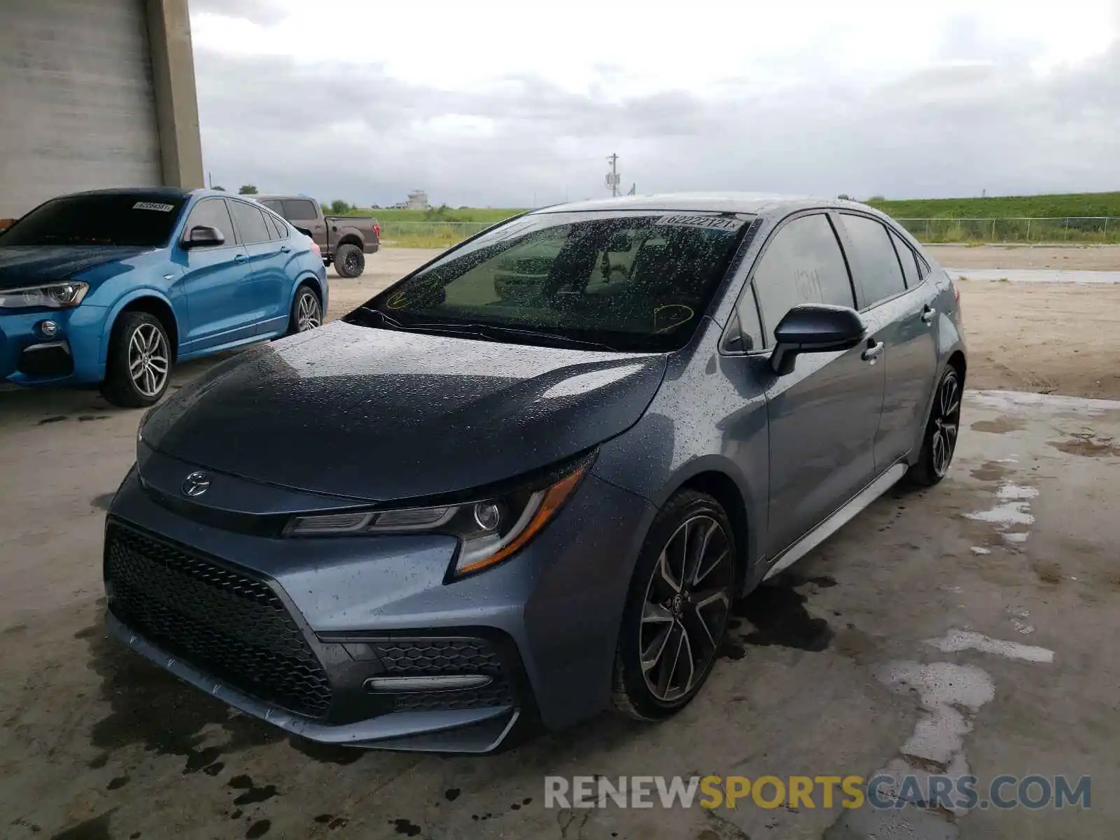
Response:
[{"label": "front wheel and tire of the blue SUV", "polygon": [[167,393],[171,360],[171,342],[158,318],[148,312],[121,312],[109,339],[101,393],[121,408],[155,405]]}]

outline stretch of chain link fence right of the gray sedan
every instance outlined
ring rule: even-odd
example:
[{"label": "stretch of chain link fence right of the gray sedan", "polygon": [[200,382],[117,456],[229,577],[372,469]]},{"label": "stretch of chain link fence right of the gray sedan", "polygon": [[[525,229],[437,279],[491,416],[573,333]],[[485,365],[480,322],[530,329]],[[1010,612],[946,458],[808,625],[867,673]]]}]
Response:
[{"label": "stretch of chain link fence right of the gray sedan", "polygon": [[1120,216],[896,218],[922,242],[1120,242]]}]

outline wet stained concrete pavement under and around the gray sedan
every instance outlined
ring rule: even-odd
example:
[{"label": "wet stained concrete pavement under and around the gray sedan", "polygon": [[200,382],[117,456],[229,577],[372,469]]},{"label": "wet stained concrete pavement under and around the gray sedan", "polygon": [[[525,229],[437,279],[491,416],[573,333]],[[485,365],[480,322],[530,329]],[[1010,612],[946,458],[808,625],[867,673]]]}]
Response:
[{"label": "wet stained concrete pavement under and around the gray sedan", "polygon": [[[105,638],[103,508],[138,419],[87,392],[0,394],[4,838],[1099,838],[1120,821],[1120,403],[969,393],[950,476],[888,493],[737,605],[675,719],[604,716],[482,758],[297,741]],[[959,743],[923,735],[951,712]],[[543,806],[545,774],[868,776],[931,755],[981,780],[1089,775],[1092,808]]]}]

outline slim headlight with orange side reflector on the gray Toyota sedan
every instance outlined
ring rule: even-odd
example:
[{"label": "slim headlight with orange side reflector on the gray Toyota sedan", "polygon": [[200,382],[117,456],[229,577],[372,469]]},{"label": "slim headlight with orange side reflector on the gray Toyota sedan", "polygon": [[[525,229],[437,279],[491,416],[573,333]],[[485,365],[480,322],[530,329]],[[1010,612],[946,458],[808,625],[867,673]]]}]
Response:
[{"label": "slim headlight with orange side reflector on the gray Toyota sedan", "polygon": [[511,493],[463,504],[293,516],[286,536],[436,533],[459,538],[455,576],[500,563],[524,548],[557,514],[591,466],[586,458]]}]

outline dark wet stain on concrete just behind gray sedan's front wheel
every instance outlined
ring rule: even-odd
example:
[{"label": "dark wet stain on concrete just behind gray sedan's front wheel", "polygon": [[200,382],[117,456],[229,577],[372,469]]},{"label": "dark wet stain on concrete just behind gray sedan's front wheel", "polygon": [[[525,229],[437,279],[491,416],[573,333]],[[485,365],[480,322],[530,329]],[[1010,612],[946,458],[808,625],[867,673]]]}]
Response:
[{"label": "dark wet stain on concrete just behind gray sedan's front wheel", "polygon": [[740,636],[743,643],[763,647],[794,647],[819,653],[832,642],[832,627],[823,618],[814,618],[805,608],[806,597],[795,587],[814,584],[836,586],[831,577],[800,578],[780,576],[741,599],[731,615],[747,619],[754,629]]}]

